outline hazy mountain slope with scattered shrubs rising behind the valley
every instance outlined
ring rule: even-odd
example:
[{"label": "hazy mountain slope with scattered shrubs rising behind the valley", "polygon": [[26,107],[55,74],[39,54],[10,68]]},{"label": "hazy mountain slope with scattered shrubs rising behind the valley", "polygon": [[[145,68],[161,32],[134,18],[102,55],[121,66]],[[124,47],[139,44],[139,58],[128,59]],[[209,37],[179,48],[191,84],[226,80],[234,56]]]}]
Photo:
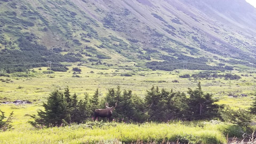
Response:
[{"label": "hazy mountain slope with scattered shrubs rising behind the valley", "polygon": [[245,0],[2,0],[0,3],[3,55],[6,50],[20,49],[17,40],[23,37],[54,53],[74,57],[80,53],[82,61],[91,63],[143,64],[152,60],[193,61],[199,57],[205,57],[205,62],[215,59],[231,63],[228,59],[233,58],[256,63],[256,9]]}]

